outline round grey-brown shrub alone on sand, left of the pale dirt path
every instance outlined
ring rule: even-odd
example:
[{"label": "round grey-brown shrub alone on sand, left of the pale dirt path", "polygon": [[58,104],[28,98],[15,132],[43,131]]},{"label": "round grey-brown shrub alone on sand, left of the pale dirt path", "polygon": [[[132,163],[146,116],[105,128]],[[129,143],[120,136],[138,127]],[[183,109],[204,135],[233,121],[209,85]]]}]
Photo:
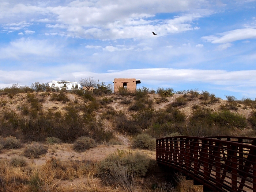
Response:
[{"label": "round grey-brown shrub alone on sand, left of the pale dirt path", "polygon": [[89,148],[97,146],[95,140],[90,137],[79,137],[73,144],[73,149],[78,152],[84,152]]}]

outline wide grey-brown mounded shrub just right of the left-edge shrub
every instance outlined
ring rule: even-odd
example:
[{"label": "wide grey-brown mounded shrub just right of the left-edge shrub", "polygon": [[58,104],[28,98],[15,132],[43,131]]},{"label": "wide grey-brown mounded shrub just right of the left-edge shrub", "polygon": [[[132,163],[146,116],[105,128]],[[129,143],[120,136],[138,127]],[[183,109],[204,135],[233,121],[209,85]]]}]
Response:
[{"label": "wide grey-brown mounded shrub just right of the left-edge shrub", "polygon": [[34,142],[26,146],[26,148],[23,150],[23,156],[29,158],[39,158],[42,154],[47,153],[47,149],[48,148],[43,144]]}]

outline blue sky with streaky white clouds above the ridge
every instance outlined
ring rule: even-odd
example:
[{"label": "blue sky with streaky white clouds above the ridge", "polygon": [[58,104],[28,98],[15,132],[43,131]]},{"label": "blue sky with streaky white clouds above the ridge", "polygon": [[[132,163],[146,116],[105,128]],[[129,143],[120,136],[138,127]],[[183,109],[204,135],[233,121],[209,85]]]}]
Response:
[{"label": "blue sky with streaky white clouds above the ridge", "polygon": [[1,89],[88,77],[254,100],[256,0],[0,0]]}]

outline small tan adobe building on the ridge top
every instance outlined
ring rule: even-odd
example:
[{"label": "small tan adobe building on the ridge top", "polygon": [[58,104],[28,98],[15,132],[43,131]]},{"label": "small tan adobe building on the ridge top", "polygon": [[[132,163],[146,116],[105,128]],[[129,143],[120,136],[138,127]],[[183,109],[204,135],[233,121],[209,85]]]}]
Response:
[{"label": "small tan adobe building on the ridge top", "polygon": [[114,81],[114,93],[118,92],[119,87],[124,87],[130,92],[135,92],[137,84],[140,83],[140,79],[127,79],[127,78],[115,78]]}]

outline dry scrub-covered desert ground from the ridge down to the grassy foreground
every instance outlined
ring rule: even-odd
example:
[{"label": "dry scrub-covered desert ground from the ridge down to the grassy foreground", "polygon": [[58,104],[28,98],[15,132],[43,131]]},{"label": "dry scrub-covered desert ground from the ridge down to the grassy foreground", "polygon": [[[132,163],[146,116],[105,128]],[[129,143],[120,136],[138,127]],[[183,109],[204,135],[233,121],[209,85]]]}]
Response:
[{"label": "dry scrub-covered desert ground from the ridge down to the grassy foreground", "polygon": [[[236,101],[232,97],[222,100],[193,90],[169,96],[147,90],[135,94],[0,92],[0,189],[122,191],[124,188],[119,185],[103,182],[97,164],[108,158],[123,161],[142,154],[146,157],[138,159],[155,160],[154,149],[132,147],[133,138],[141,133],[153,138],[256,135],[255,101]],[[77,150],[75,144],[81,136],[90,137],[96,145]],[[26,154],[29,149],[32,151]],[[116,156],[109,157],[110,154]],[[148,166],[156,169],[155,164]],[[136,177],[133,191],[157,192],[168,188],[161,170],[152,174]],[[202,191],[178,178],[177,190]],[[158,188],[152,189],[151,185]]]}]

